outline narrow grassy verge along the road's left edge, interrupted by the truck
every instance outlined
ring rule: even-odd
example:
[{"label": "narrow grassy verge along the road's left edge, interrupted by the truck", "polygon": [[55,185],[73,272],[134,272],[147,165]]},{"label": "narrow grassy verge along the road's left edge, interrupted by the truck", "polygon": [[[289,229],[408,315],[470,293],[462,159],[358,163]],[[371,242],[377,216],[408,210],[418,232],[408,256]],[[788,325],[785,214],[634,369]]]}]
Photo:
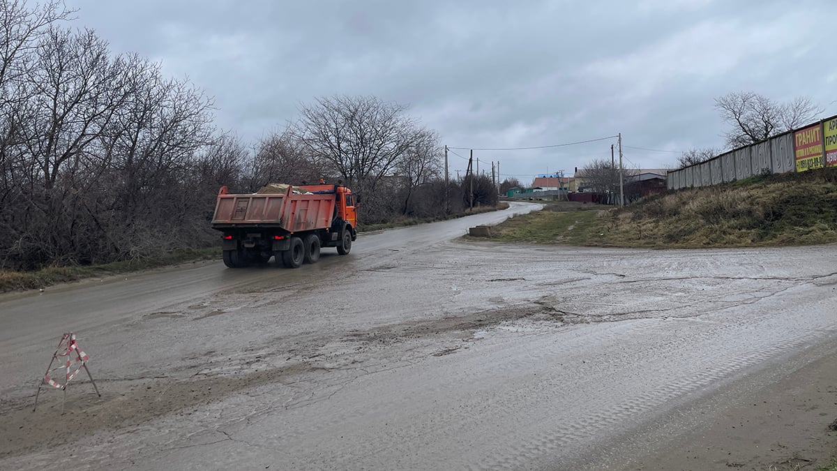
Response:
[{"label": "narrow grassy verge along the road's left edge, interrupted by the truck", "polygon": [[[473,212],[465,211],[465,213],[449,215],[444,218],[404,218],[388,224],[362,225],[358,228],[358,230],[361,232],[368,232],[405,225],[417,225],[432,222],[434,220],[453,219],[471,214],[485,213],[488,211],[505,210],[508,207],[508,204],[501,203],[497,207],[483,206],[481,208],[475,208]],[[131,261],[115,261],[105,265],[47,267],[33,272],[0,270],[0,292],[38,289],[60,282],[73,282],[91,277],[106,277],[117,273],[137,272],[149,268],[165,267],[168,265],[175,265],[177,263],[200,260],[221,260],[220,246],[203,249],[182,249],[168,253],[164,256],[146,257]]]}]

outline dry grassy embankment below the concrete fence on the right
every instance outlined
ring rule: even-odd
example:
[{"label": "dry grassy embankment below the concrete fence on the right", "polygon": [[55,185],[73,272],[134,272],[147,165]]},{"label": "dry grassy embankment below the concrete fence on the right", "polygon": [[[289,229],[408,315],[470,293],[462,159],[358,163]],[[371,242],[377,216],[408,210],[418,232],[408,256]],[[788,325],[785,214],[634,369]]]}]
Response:
[{"label": "dry grassy embankment below the concrete fence on the right", "polygon": [[621,209],[567,211],[547,204],[493,233],[501,241],[645,248],[837,242],[837,168],[686,189]]}]

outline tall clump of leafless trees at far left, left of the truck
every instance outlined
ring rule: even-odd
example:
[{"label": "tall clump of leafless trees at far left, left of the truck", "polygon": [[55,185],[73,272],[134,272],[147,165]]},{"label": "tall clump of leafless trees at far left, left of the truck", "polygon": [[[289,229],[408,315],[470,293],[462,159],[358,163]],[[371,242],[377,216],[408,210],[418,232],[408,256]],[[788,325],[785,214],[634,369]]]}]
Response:
[{"label": "tall clump of leafless trees at far left, left of the truck", "polygon": [[[44,21],[55,20],[56,5]],[[136,55],[111,56],[90,30],[32,28],[0,84],[0,267],[113,261],[208,241],[203,218],[217,189],[210,194],[207,182],[234,173],[200,154],[213,143],[211,100]]]}]

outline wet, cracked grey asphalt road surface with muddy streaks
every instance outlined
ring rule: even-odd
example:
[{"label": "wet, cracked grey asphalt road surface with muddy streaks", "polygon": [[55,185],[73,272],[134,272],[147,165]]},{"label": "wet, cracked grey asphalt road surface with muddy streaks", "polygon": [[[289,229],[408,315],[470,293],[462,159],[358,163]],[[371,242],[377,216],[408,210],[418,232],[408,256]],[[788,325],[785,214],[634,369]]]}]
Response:
[{"label": "wet, cracked grey asphalt road surface with muddy streaks", "polygon": [[[622,469],[837,339],[834,246],[460,239],[533,209],[3,296],[0,468]],[[70,330],[102,397],[33,412]]]}]

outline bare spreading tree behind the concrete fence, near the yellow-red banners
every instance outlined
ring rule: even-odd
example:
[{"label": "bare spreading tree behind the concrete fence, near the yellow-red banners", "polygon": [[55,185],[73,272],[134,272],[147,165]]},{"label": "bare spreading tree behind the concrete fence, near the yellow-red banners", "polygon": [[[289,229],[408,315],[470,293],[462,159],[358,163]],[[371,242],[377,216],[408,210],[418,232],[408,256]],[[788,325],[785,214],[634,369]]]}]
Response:
[{"label": "bare spreading tree behind the concrete fence, near the yellow-red banners", "polygon": [[807,97],[778,103],[752,91],[731,92],[715,99],[715,108],[730,129],[724,135],[727,146],[738,148],[761,142],[780,132],[813,122],[822,108]]}]

